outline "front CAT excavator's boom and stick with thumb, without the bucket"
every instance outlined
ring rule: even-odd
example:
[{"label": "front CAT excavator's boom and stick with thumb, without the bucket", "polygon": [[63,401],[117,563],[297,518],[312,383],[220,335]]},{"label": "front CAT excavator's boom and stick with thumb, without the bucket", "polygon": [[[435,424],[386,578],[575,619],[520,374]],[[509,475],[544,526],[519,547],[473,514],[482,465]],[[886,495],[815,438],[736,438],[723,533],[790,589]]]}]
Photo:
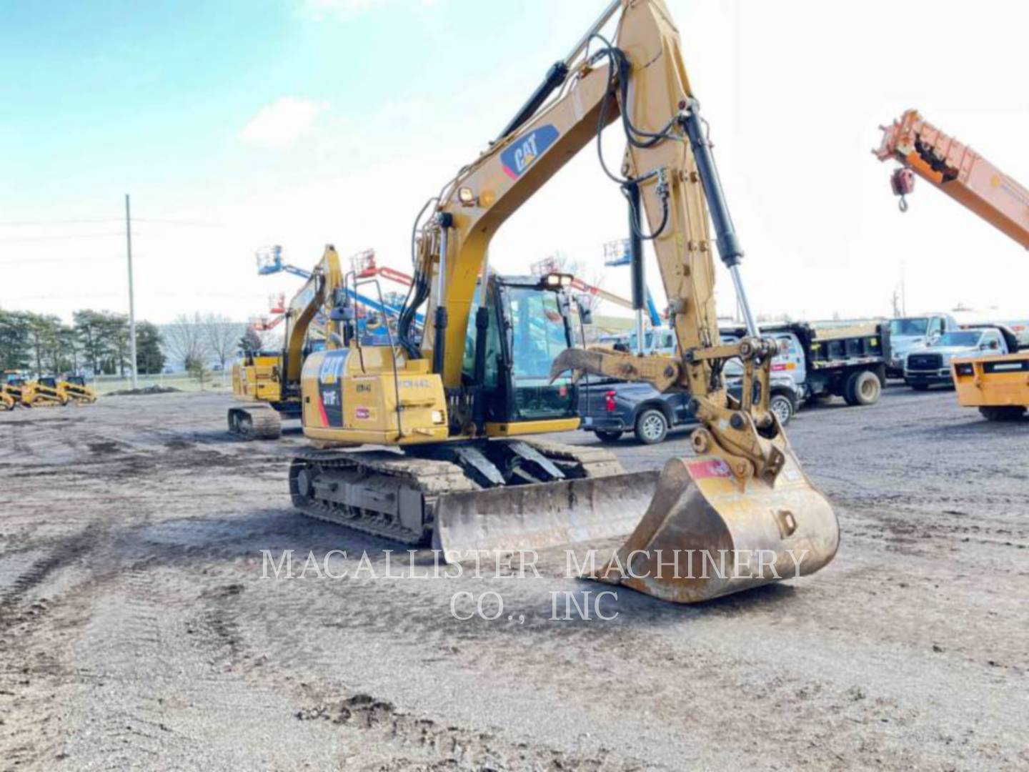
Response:
[{"label": "front CAT excavator's boom and stick with thumb, without the bucket", "polygon": [[[618,7],[623,13],[611,45],[597,31]],[[448,389],[460,387],[465,330],[476,281],[488,273],[491,239],[578,150],[599,141],[602,130],[620,118],[628,139],[624,163],[616,174],[605,171],[635,204],[635,236],[653,244],[683,358],[569,350],[555,361],[552,375],[589,371],[648,381],[662,390],[687,390],[705,425],[695,434],[697,449],[718,453],[741,481],[754,475],[774,481],[785,461],[784,443],[777,442],[781,428],[768,410],[769,370],[777,349],[759,337],[749,311],[747,338],[729,345],[718,338],[715,244],[738,293],[743,291],[743,252],[686,75],[678,31],[664,2],[612,3],[552,73],[563,68],[569,79],[559,96],[535,113],[527,115],[523,109],[508,133],[445,188],[434,216],[421,227],[416,283],[428,286],[429,304],[421,352],[432,357],[433,371],[441,374]],[[643,214],[652,227],[646,235],[641,234]],[[717,242],[709,233],[711,219]],[[729,397],[720,375],[732,357],[745,364],[748,385],[741,405]]]}]

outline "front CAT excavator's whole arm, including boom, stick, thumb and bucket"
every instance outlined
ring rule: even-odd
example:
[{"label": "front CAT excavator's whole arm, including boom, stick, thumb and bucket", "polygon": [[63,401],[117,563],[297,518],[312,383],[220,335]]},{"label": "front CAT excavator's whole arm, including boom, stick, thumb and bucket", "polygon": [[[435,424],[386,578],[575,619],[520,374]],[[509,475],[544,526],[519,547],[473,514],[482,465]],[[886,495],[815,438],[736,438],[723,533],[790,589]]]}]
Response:
[{"label": "front CAT excavator's whole arm, including boom, stick, thumb and bucket", "polygon": [[[619,8],[610,43],[599,31]],[[627,150],[620,169],[604,171],[629,202],[634,259],[642,259],[643,240],[653,244],[681,357],[569,349],[551,373],[586,371],[687,390],[701,427],[693,434],[696,456],[668,462],[647,513],[597,577],[690,602],[765,584],[784,571],[815,571],[835,555],[839,527],[768,410],[776,344],[760,337],[743,293],[743,252],[678,32],[662,0],[612,2],[491,147],[423,209],[430,216],[416,222],[415,291],[401,317],[401,342],[410,356],[431,355],[432,372],[441,375],[448,395],[460,398],[469,314],[476,281],[489,273],[490,241],[572,155],[599,143],[604,128],[616,120]],[[733,343],[718,337],[715,249],[746,317],[747,336]],[[416,342],[405,317],[425,302],[424,336]],[[744,363],[740,400],[729,395],[721,377],[733,357]],[[731,572],[709,580],[663,570],[663,553],[678,558],[695,551],[773,557],[750,576]],[[631,575],[616,571],[612,578],[615,564],[633,564]]]}]

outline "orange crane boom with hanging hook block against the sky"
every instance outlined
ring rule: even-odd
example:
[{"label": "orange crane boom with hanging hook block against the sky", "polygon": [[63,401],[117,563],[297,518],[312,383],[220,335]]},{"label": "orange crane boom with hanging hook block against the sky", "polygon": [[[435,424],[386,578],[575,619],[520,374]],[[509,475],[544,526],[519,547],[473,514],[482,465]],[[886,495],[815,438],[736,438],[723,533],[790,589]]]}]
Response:
[{"label": "orange crane boom with hanging hook block against the sky", "polygon": [[883,141],[873,152],[880,161],[893,159],[901,164],[891,178],[901,211],[908,208],[904,196],[914,188],[918,175],[1029,249],[1029,189],[944,134],[917,110],[908,110],[880,129]]}]

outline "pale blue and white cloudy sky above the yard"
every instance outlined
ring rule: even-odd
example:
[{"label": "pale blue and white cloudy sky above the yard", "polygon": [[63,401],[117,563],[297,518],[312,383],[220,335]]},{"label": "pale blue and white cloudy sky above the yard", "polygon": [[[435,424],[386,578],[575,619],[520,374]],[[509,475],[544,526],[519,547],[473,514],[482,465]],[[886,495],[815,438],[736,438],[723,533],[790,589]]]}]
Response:
[{"label": "pale blue and white cloudy sky above the yard", "polygon": [[[0,308],[137,318],[267,313],[299,280],[281,244],[410,272],[412,221],[477,156],[600,0],[0,0]],[[958,304],[1029,316],[1024,250],[928,184],[901,215],[878,126],[910,107],[1029,184],[1024,2],[667,0],[710,122],[758,313]],[[613,130],[606,156],[623,147]],[[496,270],[560,253],[605,269],[625,204],[593,147],[501,229]],[[664,305],[657,265],[648,282]],[[720,272],[717,300],[734,308]]]}]

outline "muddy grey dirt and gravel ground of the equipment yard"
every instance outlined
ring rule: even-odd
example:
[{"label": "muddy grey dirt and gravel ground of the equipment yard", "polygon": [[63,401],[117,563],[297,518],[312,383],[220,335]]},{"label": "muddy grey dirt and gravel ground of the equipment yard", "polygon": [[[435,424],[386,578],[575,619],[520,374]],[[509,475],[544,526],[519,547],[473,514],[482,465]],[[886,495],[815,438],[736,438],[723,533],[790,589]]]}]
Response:
[{"label": "muddy grey dirt and gravel ground of the equipment yard", "polygon": [[[565,621],[552,592],[607,588],[557,553],[539,578],[384,575],[403,548],[295,514],[303,435],[234,442],[229,403],[0,414],[0,769],[1029,768],[1029,421],[899,387],[806,410],[827,568]],[[686,440],[614,447],[659,468]],[[350,575],[300,577],[309,553]],[[457,619],[459,592],[503,611]]]}]

